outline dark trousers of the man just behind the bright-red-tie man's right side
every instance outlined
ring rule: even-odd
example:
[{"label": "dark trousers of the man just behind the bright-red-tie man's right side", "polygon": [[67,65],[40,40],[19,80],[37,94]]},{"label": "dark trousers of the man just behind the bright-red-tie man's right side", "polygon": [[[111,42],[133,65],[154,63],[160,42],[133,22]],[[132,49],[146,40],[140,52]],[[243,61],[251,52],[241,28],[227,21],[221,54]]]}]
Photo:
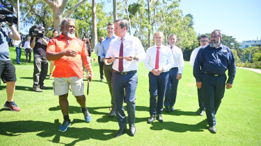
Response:
[{"label": "dark trousers of the man just behind the bright-red-tie man's right side", "polygon": [[178,68],[168,71],[169,79],[164,100],[165,107],[173,107],[177,98],[177,84],[179,80],[176,79]]}]

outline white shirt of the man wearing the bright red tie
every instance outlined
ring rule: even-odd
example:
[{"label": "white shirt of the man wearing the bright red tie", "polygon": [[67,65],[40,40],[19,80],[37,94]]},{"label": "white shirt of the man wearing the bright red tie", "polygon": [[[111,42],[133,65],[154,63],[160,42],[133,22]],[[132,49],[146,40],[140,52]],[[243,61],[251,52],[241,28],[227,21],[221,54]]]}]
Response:
[{"label": "white shirt of the man wearing the bright red tie", "polygon": [[[159,46],[159,68],[163,69],[163,72],[169,71],[173,68],[174,60],[172,57],[171,49],[168,46],[161,44]],[[146,52],[146,57],[144,60],[144,65],[146,69],[152,71],[155,69],[156,64],[156,55],[157,55],[157,46],[152,46],[148,48]]]}]

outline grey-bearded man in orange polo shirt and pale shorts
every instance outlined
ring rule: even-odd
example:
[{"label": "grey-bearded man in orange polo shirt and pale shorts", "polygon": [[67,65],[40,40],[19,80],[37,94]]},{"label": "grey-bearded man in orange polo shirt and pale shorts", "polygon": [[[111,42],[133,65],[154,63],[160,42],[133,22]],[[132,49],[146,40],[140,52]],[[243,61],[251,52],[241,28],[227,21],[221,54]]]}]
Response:
[{"label": "grey-bearded man in orange polo shirt and pale shorts", "polygon": [[68,90],[72,88],[72,94],[81,105],[86,122],[90,122],[91,116],[86,107],[84,95],[84,81],[82,77],[84,66],[89,71],[87,80],[91,80],[93,70],[87,60],[87,50],[84,42],[75,37],[75,24],[71,18],[65,18],[61,23],[62,34],[50,40],[47,46],[47,60],[53,61],[56,68],[53,72],[54,95],[59,96],[59,104],[63,113],[63,124],[58,128],[59,131],[66,131],[71,125],[68,114]]}]

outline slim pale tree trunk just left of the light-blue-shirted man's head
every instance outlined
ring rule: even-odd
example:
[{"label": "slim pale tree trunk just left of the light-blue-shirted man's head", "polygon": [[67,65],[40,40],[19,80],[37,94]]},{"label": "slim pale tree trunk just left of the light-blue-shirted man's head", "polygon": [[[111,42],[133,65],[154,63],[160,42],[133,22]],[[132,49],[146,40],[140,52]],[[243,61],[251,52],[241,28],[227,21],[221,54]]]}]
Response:
[{"label": "slim pale tree trunk just left of the light-blue-shirted man's head", "polygon": [[97,22],[96,22],[96,0],[93,1],[93,6],[92,6],[92,22],[93,22],[93,32],[92,32],[92,48],[95,47],[97,44]]}]

